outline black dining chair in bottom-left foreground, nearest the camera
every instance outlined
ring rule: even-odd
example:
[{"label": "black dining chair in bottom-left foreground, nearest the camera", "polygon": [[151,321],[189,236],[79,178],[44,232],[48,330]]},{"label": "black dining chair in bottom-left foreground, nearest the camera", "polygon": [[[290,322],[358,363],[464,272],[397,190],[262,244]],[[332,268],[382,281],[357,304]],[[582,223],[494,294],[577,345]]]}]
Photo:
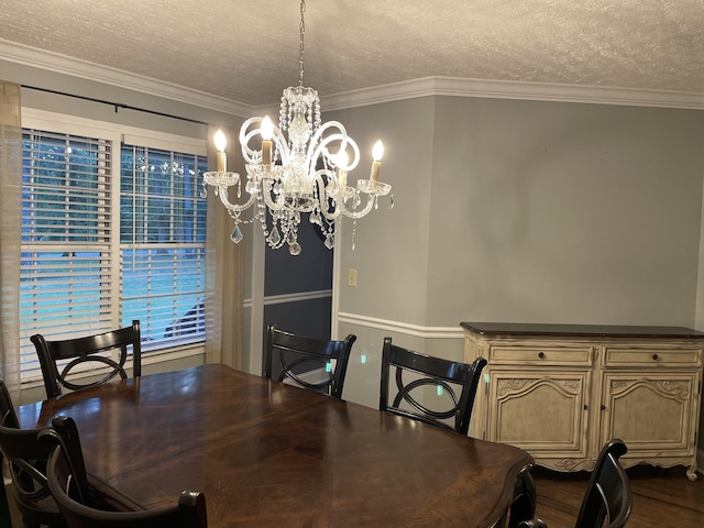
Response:
[{"label": "black dining chair in bottom-left foreground, nearest the camera", "polygon": [[201,493],[185,491],[174,506],[144,509],[106,484],[99,490],[89,486],[73,418],[54,418],[52,429],[43,431],[40,440],[50,449],[48,488],[68,528],[207,528]]}]

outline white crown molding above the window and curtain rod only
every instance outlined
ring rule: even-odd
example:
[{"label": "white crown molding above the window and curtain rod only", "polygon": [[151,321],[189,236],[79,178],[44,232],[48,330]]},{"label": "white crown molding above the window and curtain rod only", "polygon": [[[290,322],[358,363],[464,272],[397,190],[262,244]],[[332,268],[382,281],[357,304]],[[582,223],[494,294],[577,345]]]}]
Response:
[{"label": "white crown molding above the window and curtain rod only", "polygon": [[243,105],[223,97],[212,96],[202,91],[130,74],[121,69],[97,65],[87,61],[80,61],[58,53],[23,46],[13,42],[3,41],[2,38],[0,38],[0,61],[117,86],[119,88],[242,118],[253,116],[254,107],[251,105]]}]

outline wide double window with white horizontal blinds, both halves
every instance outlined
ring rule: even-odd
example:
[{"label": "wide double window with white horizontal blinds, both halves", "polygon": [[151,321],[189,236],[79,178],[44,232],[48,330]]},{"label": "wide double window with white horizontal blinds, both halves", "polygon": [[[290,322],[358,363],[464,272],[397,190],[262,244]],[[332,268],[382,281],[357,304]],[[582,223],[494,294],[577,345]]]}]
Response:
[{"label": "wide double window with white horizontal blinds, both halves", "polygon": [[33,333],[140,319],[144,352],[205,340],[205,156],[89,135],[23,130],[23,381],[41,378]]}]

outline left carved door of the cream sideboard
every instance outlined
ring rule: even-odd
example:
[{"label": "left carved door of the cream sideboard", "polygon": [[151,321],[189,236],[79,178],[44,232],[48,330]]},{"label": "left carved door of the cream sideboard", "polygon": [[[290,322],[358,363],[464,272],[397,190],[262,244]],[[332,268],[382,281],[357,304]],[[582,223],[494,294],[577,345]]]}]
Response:
[{"label": "left carved door of the cream sideboard", "polygon": [[536,459],[585,459],[590,378],[586,370],[493,370],[487,439]]}]

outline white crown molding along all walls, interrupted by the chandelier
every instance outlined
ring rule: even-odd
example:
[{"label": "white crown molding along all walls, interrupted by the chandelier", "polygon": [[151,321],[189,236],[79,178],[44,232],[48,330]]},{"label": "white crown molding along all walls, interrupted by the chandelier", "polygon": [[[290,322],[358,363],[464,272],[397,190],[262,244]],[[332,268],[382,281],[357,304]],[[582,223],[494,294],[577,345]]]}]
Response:
[{"label": "white crown molding along all walls, interrupted by the chandelier", "polygon": [[[268,111],[270,109],[277,108],[276,103],[255,107],[232,101],[223,97],[212,96],[116,68],[100,66],[66,55],[20,45],[2,38],[0,38],[0,61],[8,61],[47,72],[108,84],[242,118],[255,116],[260,113],[260,110]],[[704,110],[704,94],[548,82],[465,79],[458,77],[424,77],[403,82],[351,90],[321,97],[321,102],[326,111],[329,111],[427,96],[479,97]]]}]

